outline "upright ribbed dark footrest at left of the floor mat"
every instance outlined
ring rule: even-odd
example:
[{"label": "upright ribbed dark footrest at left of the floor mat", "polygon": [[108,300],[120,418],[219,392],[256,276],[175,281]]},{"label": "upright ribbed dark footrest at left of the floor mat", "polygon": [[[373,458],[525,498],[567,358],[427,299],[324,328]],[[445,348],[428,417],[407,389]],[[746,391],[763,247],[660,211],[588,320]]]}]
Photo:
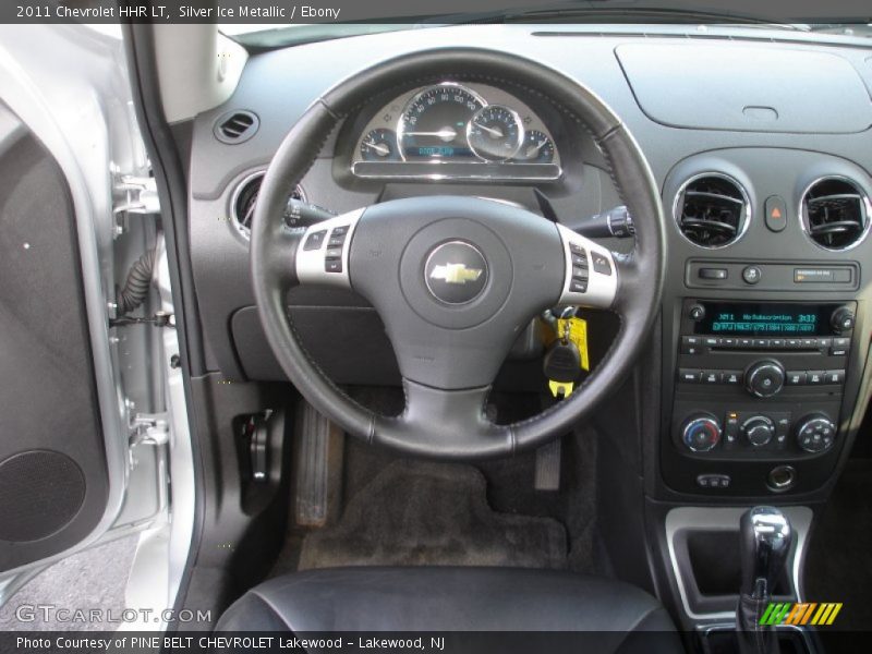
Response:
[{"label": "upright ribbed dark footrest at left of the floor mat", "polygon": [[324,526],[339,502],[344,434],[305,401],[296,424],[294,519],[301,526]]}]

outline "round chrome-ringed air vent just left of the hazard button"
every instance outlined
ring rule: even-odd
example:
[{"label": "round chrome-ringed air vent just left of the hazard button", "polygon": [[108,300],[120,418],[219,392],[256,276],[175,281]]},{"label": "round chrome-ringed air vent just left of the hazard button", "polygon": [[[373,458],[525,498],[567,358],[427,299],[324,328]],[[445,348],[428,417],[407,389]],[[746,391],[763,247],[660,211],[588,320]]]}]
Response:
[{"label": "round chrome-ringed air vent just left of the hazard button", "polygon": [[750,203],[739,182],[705,173],[685,182],[676,197],[675,218],[689,241],[703,247],[725,247],[744,233]]}]

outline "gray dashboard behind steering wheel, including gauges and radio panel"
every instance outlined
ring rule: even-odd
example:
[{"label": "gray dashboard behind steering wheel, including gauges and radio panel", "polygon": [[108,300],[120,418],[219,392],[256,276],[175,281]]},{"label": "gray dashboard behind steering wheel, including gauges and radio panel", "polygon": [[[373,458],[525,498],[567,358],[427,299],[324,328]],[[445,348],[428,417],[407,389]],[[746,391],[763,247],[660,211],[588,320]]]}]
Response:
[{"label": "gray dashboard behind steering wheel, including gauges and radio panel", "polygon": [[[627,27],[458,26],[253,56],[232,98],[197,117],[191,135],[191,254],[209,370],[283,379],[254,307],[239,205],[256,197],[306,107],[399,52],[496,48],[602,97],[661,192],[668,254],[646,362],[656,417],[641,421],[657,471],[647,492],[728,501],[822,488],[870,388],[872,50],[762,28],[713,26],[705,39],[658,29],[652,39]],[[255,126],[233,143],[216,136],[238,120]],[[603,154],[559,105],[462,71],[410,80],[346,117],[296,193],[336,213],[422,194],[482,196],[576,230],[622,204]],[[338,383],[397,384],[390,342],[361,298],[299,289],[290,302]],[[590,319],[592,349],[607,350],[617,322]],[[541,388],[541,360],[525,356],[507,362],[505,388]]]}]

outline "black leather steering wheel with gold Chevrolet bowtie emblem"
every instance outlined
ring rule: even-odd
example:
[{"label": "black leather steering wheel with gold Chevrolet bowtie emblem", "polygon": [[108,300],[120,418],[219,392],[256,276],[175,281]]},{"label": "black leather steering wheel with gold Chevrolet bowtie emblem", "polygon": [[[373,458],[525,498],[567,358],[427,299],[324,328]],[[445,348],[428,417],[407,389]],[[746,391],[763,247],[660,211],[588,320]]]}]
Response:
[{"label": "black leather steering wheel with gold Chevrolet bowtie emblem", "polygon": [[[459,196],[396,199],[307,229],[286,226],[289,190],[339,121],[376,94],[446,77],[536,95],[586,130],[633,216],[633,252],[611,253],[516,206]],[[664,262],[658,192],[615,113],[594,93],[545,65],[477,48],[402,55],[340,82],[313,102],[267,169],[251,233],[261,320],[303,397],[367,443],[444,459],[532,448],[588,416],[625,380],[645,343],[659,308]],[[361,407],[307,355],[288,315],[286,294],[295,286],[353,289],[375,307],[403,377],[405,409],[399,416]],[[560,304],[617,313],[620,328],[610,349],[568,399],[523,422],[494,424],[485,404],[498,368],[530,320]]]}]

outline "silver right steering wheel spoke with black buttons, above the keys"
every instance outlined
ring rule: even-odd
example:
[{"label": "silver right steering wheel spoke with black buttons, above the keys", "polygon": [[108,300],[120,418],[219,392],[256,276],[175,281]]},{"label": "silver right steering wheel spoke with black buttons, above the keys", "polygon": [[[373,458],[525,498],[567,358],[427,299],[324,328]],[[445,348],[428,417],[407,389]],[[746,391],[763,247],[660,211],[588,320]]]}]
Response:
[{"label": "silver right steering wheel spoke with black buttons, above the keys", "polygon": [[621,259],[562,225],[557,231],[566,262],[559,304],[611,308],[618,294]]}]

